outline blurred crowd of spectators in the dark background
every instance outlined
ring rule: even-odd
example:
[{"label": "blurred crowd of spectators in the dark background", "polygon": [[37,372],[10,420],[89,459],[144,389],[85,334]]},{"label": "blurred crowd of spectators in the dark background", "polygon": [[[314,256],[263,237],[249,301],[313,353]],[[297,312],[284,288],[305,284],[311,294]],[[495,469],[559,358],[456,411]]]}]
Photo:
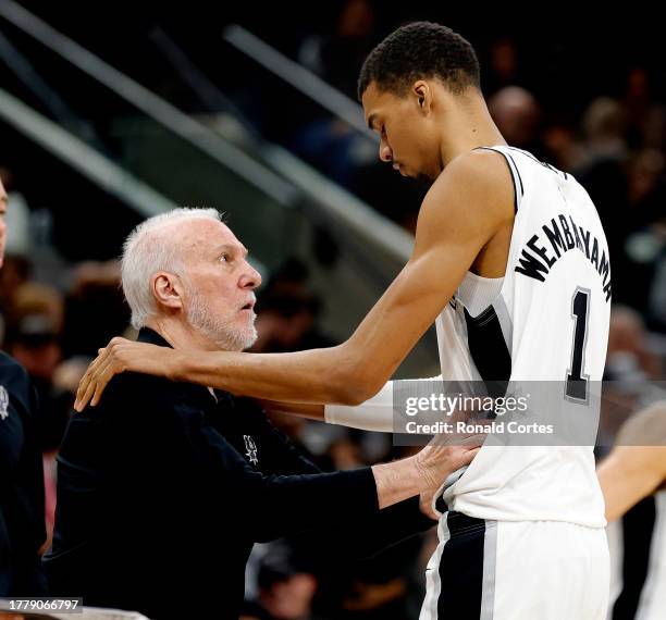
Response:
[{"label": "blurred crowd of spectators in the dark background", "polygon": [[[328,28],[301,32],[294,55],[356,98],[365,54],[385,32],[377,4],[340,3]],[[465,34],[465,33],[462,33]],[[626,69],[613,92],[581,100],[563,113],[530,80],[525,52],[510,37],[480,49],[484,94],[507,141],[572,173],[595,202],[608,237],[615,308],[607,376],[663,379],[666,346],[666,106],[646,66]],[[624,71],[624,70],[622,70]],[[574,111],[574,112],[571,112]],[[578,113],[575,113],[578,112]],[[366,138],[328,115],[281,129],[266,110],[250,110],[268,136],[287,145],[378,210],[414,230],[423,188],[377,163]],[[115,261],[67,264],[45,253],[48,213],[15,187],[11,159],[0,162],[10,196],[10,244],[0,271],[2,348],[30,374],[40,399],[47,522],[55,505],[54,457],[87,363],[111,337],[131,335]],[[47,226],[48,227],[48,226]],[[286,261],[259,293],[252,350],[275,352],[335,344],[319,327],[321,300],[307,265]],[[405,455],[391,437],[273,414],[324,470],[348,469]],[[424,561],[434,532],[350,565],[320,557],[307,537],[257,545],[248,566],[246,618],[303,620],[416,618]],[[47,543],[48,546],[48,543]],[[325,575],[325,579],[324,579]]]}]

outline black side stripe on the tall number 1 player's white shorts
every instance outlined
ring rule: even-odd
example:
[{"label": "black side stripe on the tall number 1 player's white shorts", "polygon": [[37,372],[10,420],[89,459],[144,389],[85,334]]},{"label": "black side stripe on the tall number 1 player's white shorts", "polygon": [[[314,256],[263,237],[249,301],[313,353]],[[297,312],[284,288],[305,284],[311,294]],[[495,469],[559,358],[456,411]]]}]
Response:
[{"label": "black side stripe on the tall number 1 player's white shorts", "polygon": [[444,544],[440,566],[442,588],[437,618],[479,620],[483,595],[483,548],[485,521],[461,512],[448,512],[451,538]]}]

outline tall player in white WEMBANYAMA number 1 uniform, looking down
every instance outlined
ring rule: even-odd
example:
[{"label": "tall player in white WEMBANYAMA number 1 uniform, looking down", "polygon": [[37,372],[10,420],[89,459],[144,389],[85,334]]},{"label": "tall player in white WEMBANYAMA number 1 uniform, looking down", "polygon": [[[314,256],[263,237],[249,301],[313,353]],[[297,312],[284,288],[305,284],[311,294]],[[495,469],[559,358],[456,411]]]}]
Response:
[{"label": "tall player in white WEMBANYAMA number 1 uniform, looking down", "polygon": [[[98,402],[126,370],[274,401],[359,405],[435,322],[445,379],[564,382],[559,399],[587,416],[608,336],[604,232],[575,178],[507,146],[479,83],[470,44],[436,24],[398,28],[366,60],[359,96],[380,158],[432,186],[408,263],[348,340],[194,356],[118,338],[82,380],[76,407]],[[220,269],[237,262],[230,253]],[[422,619],[604,618],[608,549],[591,446],[484,445],[444,501]]]}]

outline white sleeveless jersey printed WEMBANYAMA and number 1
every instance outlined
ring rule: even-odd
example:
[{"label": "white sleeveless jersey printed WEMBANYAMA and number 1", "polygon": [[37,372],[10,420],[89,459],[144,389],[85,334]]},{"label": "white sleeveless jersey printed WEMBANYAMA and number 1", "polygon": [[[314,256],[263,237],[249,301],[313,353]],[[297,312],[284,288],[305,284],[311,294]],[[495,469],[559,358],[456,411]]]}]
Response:
[{"label": "white sleeveless jersey printed WEMBANYAMA and number 1", "polygon": [[[610,312],[608,246],[594,204],[569,174],[511,147],[516,216],[506,273],[468,273],[437,318],[445,380],[558,382],[563,404],[602,380]],[[566,394],[565,394],[566,393]],[[596,411],[594,408],[596,406]],[[591,442],[593,443],[593,442]],[[603,528],[592,445],[484,445],[445,486],[449,510],[498,521]]]}]

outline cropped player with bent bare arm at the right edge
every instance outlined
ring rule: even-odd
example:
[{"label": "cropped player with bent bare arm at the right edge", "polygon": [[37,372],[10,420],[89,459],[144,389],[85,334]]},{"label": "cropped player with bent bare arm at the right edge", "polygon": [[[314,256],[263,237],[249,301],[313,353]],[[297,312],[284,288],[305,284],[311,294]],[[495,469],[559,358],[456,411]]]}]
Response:
[{"label": "cropped player with bent bare arm at the right edge", "polygon": [[666,609],[666,402],[631,417],[599,466],[610,546],[608,620]]}]

